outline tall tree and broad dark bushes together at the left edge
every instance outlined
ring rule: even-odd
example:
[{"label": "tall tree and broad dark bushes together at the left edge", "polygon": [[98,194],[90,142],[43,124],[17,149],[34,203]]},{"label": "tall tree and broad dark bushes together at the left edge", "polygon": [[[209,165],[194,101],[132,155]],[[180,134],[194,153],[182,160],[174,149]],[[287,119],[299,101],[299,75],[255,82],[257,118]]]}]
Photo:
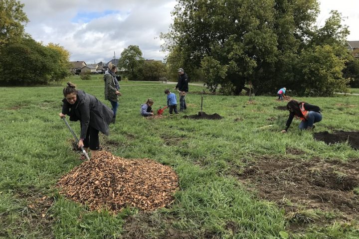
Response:
[{"label": "tall tree and broad dark bushes together at the left edge", "polygon": [[70,53],[43,45],[24,32],[28,22],[16,0],[0,0],[0,85],[47,84],[69,75]]}]

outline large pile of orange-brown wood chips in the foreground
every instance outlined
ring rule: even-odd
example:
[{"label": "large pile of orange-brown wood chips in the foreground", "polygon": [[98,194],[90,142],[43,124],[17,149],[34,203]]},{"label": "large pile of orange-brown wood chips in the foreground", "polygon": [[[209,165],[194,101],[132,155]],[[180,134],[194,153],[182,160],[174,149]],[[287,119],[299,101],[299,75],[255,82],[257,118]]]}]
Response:
[{"label": "large pile of orange-brown wood chips in the foreground", "polygon": [[91,210],[117,212],[126,206],[151,211],[173,201],[175,171],[150,159],[125,159],[100,151],[63,176],[60,193]]}]

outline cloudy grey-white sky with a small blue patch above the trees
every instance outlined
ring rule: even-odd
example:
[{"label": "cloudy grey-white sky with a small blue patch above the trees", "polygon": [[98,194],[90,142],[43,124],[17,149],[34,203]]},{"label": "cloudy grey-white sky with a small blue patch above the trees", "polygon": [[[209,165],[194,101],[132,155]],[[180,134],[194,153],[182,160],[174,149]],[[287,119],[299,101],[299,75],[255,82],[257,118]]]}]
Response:
[{"label": "cloudy grey-white sky with a small blue patch above the trees", "polygon": [[[71,61],[93,64],[118,58],[138,45],[146,59],[163,60],[159,36],[173,22],[176,0],[20,0],[29,18],[25,31],[35,40],[64,46]],[[359,0],[320,0],[322,25],[332,9],[348,17],[348,40],[359,40]]]}]

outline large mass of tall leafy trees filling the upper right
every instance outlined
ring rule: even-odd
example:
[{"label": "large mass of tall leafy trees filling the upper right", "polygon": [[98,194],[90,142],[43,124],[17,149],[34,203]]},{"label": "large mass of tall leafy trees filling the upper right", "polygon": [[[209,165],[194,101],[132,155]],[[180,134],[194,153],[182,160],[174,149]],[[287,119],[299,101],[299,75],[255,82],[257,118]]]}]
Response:
[{"label": "large mass of tall leafy trees filling the upper right", "polygon": [[351,80],[343,72],[356,62],[349,31],[337,11],[315,26],[318,12],[317,0],[179,0],[162,34],[169,68],[183,66],[230,94],[248,82],[257,94],[283,86],[318,96],[343,91]]}]

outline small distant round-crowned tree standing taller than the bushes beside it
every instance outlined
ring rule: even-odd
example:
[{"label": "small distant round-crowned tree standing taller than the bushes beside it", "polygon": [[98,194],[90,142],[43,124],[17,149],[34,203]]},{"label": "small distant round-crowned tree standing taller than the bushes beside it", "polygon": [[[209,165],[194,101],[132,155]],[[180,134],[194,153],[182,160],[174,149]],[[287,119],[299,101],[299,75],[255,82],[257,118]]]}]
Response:
[{"label": "small distant round-crowned tree standing taller than the bushes beside it", "polygon": [[139,46],[129,45],[121,52],[118,66],[127,70],[129,80],[138,80],[138,68],[143,64],[144,58]]}]

